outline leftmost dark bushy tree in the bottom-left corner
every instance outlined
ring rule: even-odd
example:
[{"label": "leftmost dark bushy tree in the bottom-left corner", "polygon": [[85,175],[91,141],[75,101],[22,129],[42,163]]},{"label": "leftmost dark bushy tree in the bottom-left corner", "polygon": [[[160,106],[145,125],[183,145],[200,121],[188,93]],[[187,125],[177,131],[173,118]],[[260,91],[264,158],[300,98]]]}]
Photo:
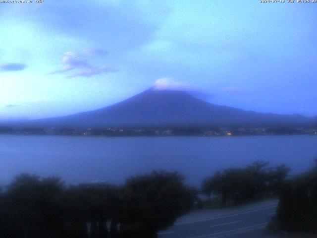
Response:
[{"label": "leftmost dark bushy tree in the bottom-left corner", "polygon": [[58,178],[20,175],[5,195],[11,237],[63,237],[64,185]]}]

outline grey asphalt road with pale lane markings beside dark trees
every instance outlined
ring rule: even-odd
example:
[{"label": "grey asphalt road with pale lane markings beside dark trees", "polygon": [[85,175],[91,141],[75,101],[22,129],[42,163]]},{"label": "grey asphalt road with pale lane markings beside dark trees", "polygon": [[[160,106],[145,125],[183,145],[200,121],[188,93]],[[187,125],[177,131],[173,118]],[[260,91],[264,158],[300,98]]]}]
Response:
[{"label": "grey asphalt road with pale lane markings beside dark trees", "polygon": [[196,212],[195,218],[188,219],[189,215],[187,219],[180,219],[173,227],[158,235],[159,238],[263,237],[261,234],[269,219],[275,214],[276,208],[277,201],[275,200],[231,210],[226,209],[223,213],[219,212],[220,209],[207,214],[205,212],[201,219],[199,219],[199,213]]}]

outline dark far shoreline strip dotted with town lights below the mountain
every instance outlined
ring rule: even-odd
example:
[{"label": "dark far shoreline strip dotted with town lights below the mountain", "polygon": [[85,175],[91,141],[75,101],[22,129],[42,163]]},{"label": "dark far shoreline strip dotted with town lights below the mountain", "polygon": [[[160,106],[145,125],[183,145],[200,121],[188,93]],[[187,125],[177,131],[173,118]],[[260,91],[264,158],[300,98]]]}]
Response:
[{"label": "dark far shoreline strip dotted with town lights below the mountain", "polygon": [[317,127],[166,127],[166,128],[14,128],[0,126],[0,134],[11,135],[64,135],[94,137],[236,137],[269,135],[317,135]]}]

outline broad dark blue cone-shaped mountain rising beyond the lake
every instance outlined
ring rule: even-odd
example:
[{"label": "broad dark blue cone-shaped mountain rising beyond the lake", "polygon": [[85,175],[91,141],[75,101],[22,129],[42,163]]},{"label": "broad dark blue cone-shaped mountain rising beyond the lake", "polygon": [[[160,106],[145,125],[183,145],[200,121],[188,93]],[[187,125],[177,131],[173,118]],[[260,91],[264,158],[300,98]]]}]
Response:
[{"label": "broad dark blue cone-shaped mountain rising beyond the lake", "polygon": [[72,127],[294,126],[313,123],[313,118],[243,111],[211,104],[185,91],[150,88],[102,109],[33,123]]}]

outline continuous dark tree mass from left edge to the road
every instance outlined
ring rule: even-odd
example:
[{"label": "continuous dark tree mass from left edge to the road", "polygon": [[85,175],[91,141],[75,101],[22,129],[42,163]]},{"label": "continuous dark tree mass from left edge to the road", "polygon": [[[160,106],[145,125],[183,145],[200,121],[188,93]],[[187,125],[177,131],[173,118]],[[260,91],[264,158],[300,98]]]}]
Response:
[{"label": "continuous dark tree mass from left edge to the road", "polygon": [[177,173],[65,186],[17,176],[0,198],[1,238],[154,238],[192,208],[195,192]]}]

